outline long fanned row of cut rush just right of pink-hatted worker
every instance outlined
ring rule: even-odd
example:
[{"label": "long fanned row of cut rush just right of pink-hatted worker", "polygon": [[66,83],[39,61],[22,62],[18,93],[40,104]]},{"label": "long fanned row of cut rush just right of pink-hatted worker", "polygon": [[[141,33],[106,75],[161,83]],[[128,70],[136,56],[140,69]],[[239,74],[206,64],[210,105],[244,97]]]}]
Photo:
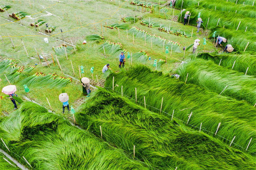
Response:
[{"label": "long fanned row of cut rush just right of pink-hatted worker", "polygon": [[53,88],[61,89],[72,81],[71,78],[65,78],[65,77],[57,78],[57,76],[58,75],[56,73],[52,73],[52,74],[49,73],[48,75],[45,75],[42,72],[40,73],[36,72],[34,75],[21,80],[18,84],[27,85],[29,87],[35,87],[35,88],[46,87],[49,89],[53,89]]}]

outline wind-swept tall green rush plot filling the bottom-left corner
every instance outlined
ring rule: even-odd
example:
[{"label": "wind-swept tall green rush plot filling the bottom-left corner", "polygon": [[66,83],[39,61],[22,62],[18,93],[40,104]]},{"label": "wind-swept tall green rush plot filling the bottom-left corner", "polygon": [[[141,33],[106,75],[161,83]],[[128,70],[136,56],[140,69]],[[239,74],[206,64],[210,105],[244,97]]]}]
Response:
[{"label": "wind-swept tall green rush plot filling the bottom-left corner", "polygon": [[122,150],[32,102],[24,102],[18,111],[1,120],[0,135],[13,158],[22,162],[24,156],[38,170],[148,169]]}]

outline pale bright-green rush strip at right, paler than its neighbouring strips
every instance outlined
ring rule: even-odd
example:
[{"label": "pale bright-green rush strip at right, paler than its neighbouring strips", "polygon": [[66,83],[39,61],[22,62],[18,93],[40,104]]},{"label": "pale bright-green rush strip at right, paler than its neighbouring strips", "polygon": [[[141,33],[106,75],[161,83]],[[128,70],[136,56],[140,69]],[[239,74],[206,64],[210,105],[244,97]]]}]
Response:
[{"label": "pale bright-green rush strip at right, paler than its neighbouring strips", "polygon": [[[246,100],[252,105],[256,103],[256,90],[254,88],[256,78],[254,76],[220,67],[213,61],[192,59],[187,62],[177,69],[181,81],[185,82],[188,73],[187,83],[199,85],[218,94],[227,86],[221,95],[237,100]],[[239,67],[240,64],[237,65]]]}]

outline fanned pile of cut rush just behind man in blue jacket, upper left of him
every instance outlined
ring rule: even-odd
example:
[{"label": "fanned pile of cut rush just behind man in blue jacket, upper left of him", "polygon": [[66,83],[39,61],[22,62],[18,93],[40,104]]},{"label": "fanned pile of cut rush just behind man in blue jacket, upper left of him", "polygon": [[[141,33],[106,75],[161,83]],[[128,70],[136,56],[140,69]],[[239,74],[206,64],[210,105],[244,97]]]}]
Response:
[{"label": "fanned pile of cut rush just behind man in blue jacket, upper left of him", "polygon": [[[103,49],[104,47],[104,49]],[[115,55],[117,52],[121,52],[124,51],[124,53],[126,52],[126,50],[123,50],[123,45],[121,43],[115,43],[112,41],[106,41],[104,44],[102,44],[102,46],[100,46],[100,50],[102,52],[111,54],[111,55]]]}]

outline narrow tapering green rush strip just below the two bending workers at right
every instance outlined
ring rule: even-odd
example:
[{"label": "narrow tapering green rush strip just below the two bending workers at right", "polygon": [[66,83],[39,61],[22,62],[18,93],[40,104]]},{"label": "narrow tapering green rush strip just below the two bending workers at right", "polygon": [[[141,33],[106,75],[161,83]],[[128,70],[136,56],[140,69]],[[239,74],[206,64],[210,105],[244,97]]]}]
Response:
[{"label": "narrow tapering green rush strip just below the two bending workers at right", "polygon": [[[194,55],[191,56],[195,58]],[[238,72],[247,73],[246,75],[256,76],[256,54],[243,52],[243,53],[200,53],[196,55],[197,58],[203,58],[205,60],[212,60],[215,64],[226,67],[228,69],[236,70]],[[221,60],[221,62],[220,62]]]}]

